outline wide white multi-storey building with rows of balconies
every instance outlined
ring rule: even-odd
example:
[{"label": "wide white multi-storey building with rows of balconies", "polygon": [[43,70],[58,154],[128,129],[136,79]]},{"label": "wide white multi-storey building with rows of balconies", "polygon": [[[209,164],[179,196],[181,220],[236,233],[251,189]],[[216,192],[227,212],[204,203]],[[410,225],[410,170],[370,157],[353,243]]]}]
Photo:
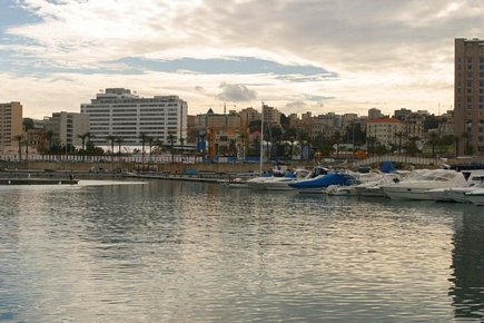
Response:
[{"label": "wide white multi-storey building with rows of balconies", "polygon": [[188,105],[178,96],[142,98],[129,89],[107,88],[80,110],[90,117],[95,145],[108,145],[108,136],[118,136],[124,145],[141,144],[141,134],[165,143],[170,135],[187,138]]}]

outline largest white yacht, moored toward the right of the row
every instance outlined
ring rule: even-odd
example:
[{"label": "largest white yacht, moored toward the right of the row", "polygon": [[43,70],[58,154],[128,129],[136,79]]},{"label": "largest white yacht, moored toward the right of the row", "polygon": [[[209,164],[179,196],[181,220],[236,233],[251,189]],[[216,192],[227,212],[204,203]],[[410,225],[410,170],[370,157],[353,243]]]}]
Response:
[{"label": "largest white yacht, moored toward the right of the row", "polygon": [[428,189],[466,185],[464,175],[455,170],[426,169],[411,175],[398,183],[382,185],[381,188],[392,199],[433,199],[426,194]]}]

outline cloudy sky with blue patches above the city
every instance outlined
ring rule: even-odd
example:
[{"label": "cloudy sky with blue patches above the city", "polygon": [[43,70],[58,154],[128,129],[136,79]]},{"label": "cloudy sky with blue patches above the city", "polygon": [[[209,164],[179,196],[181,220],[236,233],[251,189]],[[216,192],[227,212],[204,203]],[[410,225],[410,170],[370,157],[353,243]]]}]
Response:
[{"label": "cloudy sky with blue patches above the city", "polygon": [[188,114],[453,109],[454,39],[482,0],[0,0],[0,102],[80,111],[106,88]]}]

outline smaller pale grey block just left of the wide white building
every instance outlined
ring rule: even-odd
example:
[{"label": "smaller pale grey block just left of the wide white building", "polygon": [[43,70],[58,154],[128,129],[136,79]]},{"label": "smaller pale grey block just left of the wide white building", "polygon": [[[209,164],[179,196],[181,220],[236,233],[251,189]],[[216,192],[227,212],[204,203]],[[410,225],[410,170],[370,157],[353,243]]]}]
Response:
[{"label": "smaller pale grey block just left of the wide white building", "polygon": [[78,136],[90,131],[89,115],[66,111],[53,112],[46,120],[46,131],[53,133],[52,143],[60,146],[80,147],[82,140]]}]

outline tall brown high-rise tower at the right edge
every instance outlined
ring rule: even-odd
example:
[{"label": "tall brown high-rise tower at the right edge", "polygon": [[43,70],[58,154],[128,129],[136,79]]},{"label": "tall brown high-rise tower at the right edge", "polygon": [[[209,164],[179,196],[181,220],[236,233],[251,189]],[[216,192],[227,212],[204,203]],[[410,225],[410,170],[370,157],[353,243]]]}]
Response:
[{"label": "tall brown high-rise tower at the right edge", "polygon": [[[484,40],[455,39],[454,127],[455,135],[472,135],[475,153],[484,153]],[[460,155],[464,144],[458,145]]]}]

